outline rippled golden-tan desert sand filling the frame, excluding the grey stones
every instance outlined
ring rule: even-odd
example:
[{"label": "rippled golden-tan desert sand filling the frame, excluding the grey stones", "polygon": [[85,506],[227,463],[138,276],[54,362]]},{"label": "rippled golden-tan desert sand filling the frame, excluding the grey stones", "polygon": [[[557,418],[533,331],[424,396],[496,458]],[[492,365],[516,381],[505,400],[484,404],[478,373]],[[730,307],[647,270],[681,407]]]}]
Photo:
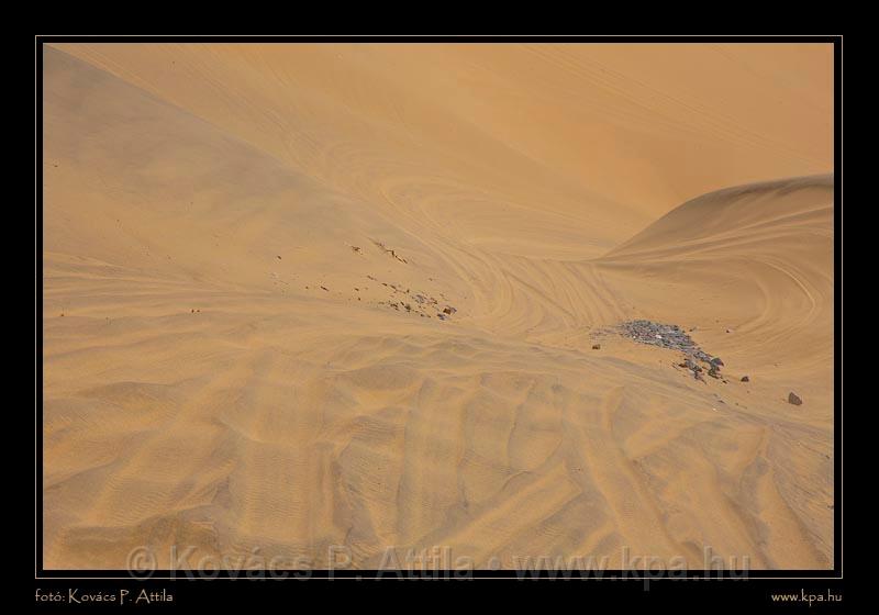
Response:
[{"label": "rippled golden-tan desert sand filling the frame, excluding the grey stones", "polygon": [[832,55],[782,47],[47,47],[45,567],[832,567]]}]

